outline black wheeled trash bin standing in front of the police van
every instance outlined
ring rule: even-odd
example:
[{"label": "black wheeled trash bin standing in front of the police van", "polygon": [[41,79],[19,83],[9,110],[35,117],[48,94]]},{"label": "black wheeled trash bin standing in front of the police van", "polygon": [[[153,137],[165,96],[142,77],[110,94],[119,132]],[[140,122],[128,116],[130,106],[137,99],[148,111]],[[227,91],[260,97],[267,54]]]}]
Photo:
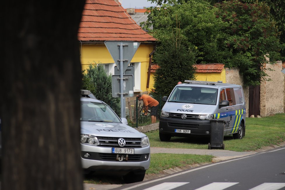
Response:
[{"label": "black wheeled trash bin standing in front of the police van", "polygon": [[212,147],[225,149],[224,144],[224,127],[226,122],[222,119],[212,119],[211,123],[211,139],[208,143],[208,149]]}]

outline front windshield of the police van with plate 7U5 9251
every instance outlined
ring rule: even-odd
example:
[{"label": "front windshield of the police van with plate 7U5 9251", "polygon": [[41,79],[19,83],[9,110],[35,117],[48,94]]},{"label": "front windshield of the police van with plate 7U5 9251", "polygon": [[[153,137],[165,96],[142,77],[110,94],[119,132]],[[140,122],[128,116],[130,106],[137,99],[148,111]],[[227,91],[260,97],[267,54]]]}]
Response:
[{"label": "front windshield of the police van with plate 7U5 9251", "polygon": [[216,105],[218,90],[204,87],[176,87],[168,102]]}]

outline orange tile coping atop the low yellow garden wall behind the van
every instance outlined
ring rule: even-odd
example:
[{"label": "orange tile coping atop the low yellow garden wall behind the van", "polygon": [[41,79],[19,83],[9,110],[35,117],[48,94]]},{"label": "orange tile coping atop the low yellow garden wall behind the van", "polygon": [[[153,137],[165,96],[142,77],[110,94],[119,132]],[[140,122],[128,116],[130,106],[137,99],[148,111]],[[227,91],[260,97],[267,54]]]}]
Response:
[{"label": "orange tile coping atop the low yellow garden wall behind the van", "polygon": [[[208,64],[194,64],[193,67],[196,67],[196,73],[221,73],[224,64],[221,63],[208,63]],[[151,65],[151,73],[155,73],[156,69],[159,68],[157,64]]]}]

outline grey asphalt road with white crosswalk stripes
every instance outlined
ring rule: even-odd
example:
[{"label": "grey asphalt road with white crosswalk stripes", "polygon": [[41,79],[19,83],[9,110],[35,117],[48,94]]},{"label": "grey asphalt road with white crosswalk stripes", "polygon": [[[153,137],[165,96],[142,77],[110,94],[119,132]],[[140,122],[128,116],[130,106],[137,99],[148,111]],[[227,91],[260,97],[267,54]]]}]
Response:
[{"label": "grey asphalt road with white crosswalk stripes", "polygon": [[159,179],[124,184],[122,190],[277,190],[285,189],[285,146],[208,164]]}]

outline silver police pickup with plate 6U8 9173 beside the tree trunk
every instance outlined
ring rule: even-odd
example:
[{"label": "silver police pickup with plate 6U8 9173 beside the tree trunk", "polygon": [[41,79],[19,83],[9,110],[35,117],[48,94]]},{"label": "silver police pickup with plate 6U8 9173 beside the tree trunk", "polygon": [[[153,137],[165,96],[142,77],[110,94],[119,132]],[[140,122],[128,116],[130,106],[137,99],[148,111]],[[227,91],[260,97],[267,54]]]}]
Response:
[{"label": "silver police pickup with plate 6U8 9173 beside the tree trunk", "polygon": [[85,173],[118,173],[126,183],[143,181],[150,164],[147,136],[89,93],[81,90],[81,161]]}]

